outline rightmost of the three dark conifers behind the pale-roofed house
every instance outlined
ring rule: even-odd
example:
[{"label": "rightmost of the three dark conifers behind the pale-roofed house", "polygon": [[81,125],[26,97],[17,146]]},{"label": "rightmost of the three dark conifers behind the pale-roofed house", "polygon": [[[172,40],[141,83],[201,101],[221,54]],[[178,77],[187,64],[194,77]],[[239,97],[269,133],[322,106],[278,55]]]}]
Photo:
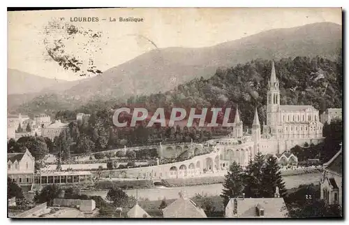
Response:
[{"label": "rightmost of the three dark conifers behind the pale-roofed house", "polygon": [[275,157],[269,157],[267,163],[262,168],[262,186],[260,193],[264,198],[274,198],[276,187],[279,187],[281,197],[285,194],[285,182],[281,177],[280,166]]}]

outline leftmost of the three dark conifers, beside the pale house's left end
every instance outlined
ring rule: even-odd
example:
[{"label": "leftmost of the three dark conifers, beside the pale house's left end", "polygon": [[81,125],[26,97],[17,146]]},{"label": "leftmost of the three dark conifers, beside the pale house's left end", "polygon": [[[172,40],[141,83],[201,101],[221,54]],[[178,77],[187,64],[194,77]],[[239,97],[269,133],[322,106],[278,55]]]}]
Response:
[{"label": "leftmost of the three dark conifers, beside the pale house's left end", "polygon": [[223,182],[223,204],[228,204],[230,198],[236,198],[244,191],[244,170],[235,161],[229,167],[228,173],[224,176]]}]

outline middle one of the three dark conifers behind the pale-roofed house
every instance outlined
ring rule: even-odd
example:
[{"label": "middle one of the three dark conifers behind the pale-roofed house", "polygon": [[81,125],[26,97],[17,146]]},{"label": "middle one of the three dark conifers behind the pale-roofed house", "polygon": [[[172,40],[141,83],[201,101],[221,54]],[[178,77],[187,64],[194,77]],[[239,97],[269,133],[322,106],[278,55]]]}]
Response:
[{"label": "middle one of the three dark conifers behind the pale-roofed house", "polygon": [[244,193],[248,198],[260,198],[262,194],[262,168],[265,164],[264,155],[258,152],[253,161],[246,166]]}]

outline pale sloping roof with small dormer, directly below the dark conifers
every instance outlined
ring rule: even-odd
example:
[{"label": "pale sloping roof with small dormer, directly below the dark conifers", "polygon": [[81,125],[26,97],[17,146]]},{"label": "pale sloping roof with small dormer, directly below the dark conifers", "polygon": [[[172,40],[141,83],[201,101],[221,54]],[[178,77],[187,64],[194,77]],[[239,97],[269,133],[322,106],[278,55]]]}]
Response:
[{"label": "pale sloping roof with small dormer, directly below the dark conifers", "polygon": [[[230,210],[234,210],[234,198],[230,198]],[[251,218],[258,217],[256,207],[264,209],[262,218],[284,218],[288,212],[283,198],[238,198],[237,217]]]}]

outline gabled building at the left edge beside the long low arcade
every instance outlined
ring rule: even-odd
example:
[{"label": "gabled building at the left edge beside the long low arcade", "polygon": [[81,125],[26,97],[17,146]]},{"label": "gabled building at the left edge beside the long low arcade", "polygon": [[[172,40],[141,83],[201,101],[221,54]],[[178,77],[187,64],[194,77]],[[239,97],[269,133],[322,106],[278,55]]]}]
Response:
[{"label": "gabled building at the left edge beside the long low arcade", "polygon": [[7,175],[20,186],[34,182],[35,159],[27,149],[24,153],[7,154]]}]

